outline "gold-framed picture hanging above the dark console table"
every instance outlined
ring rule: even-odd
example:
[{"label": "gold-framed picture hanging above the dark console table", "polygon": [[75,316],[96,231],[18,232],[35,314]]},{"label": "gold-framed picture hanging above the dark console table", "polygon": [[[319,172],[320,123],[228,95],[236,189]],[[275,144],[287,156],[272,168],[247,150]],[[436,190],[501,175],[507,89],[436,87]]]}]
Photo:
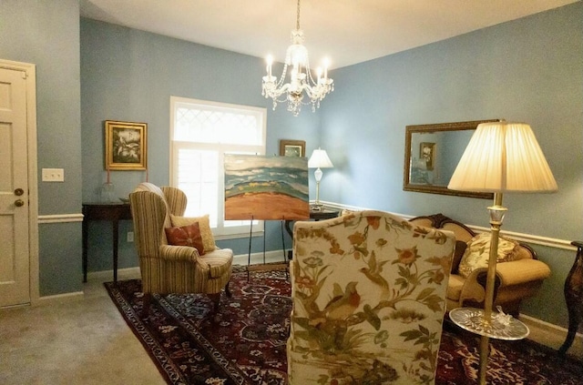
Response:
[{"label": "gold-framed picture hanging above the dark console table", "polygon": [[148,167],[148,124],[106,120],[106,169]]}]

